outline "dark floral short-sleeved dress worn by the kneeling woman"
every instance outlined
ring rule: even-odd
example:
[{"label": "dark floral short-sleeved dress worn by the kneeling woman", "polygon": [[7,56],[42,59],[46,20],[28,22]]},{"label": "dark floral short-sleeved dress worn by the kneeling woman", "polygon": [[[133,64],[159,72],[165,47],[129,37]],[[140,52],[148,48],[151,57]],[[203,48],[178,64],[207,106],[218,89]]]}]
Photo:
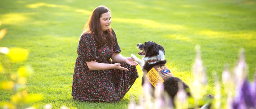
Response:
[{"label": "dark floral short-sleeved dress worn by the kneeling woman", "polygon": [[78,57],[75,63],[72,96],[79,101],[100,101],[117,102],[121,100],[129,91],[136,78],[139,77],[136,66],[131,66],[125,62],[120,63],[122,67],[129,71],[118,69],[109,70],[89,70],[86,61],[114,64],[111,61],[113,53],[120,53],[121,49],[114,35],[112,47],[105,45],[97,48],[97,44],[92,34],[81,34],[78,44]]}]

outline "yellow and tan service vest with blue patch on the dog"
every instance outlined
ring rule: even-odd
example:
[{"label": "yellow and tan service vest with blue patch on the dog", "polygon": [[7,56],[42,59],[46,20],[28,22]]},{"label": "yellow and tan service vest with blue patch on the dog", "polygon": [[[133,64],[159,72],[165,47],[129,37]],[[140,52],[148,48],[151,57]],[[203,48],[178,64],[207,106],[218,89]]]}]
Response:
[{"label": "yellow and tan service vest with blue patch on the dog", "polygon": [[174,77],[165,64],[158,64],[152,67],[146,75],[148,81],[156,87],[156,85],[163,84],[167,79]]}]

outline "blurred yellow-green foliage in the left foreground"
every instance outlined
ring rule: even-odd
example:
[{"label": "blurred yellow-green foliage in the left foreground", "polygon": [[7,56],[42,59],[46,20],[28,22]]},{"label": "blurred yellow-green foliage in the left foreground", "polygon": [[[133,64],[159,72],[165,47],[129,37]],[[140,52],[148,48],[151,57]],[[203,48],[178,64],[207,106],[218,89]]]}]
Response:
[{"label": "blurred yellow-green foliage in the left foreground", "polygon": [[[1,22],[0,22],[1,25]],[[4,30],[4,29],[3,29]],[[0,31],[0,40],[4,37],[6,34],[6,30]],[[4,32],[4,33],[2,33]],[[27,56],[29,52],[22,48],[6,48],[6,47],[0,47],[0,53],[1,55],[7,55],[9,59],[11,60],[11,64],[18,62],[18,61],[25,61],[27,59]],[[2,58],[1,58],[2,60]],[[6,65],[9,64],[8,61],[1,61],[0,65]],[[43,96],[40,94],[28,94],[27,93],[27,79],[26,77],[31,76],[34,71],[33,68],[30,65],[25,65],[19,67],[18,71],[16,73],[10,73],[10,72],[2,72],[4,68],[0,66],[0,73],[2,75],[10,76],[8,78],[11,78],[10,80],[7,80],[5,82],[0,83],[0,88],[5,90],[13,91],[13,94],[11,96],[11,101],[1,101],[0,108],[3,109],[22,109],[27,108],[27,103],[40,101],[43,99]],[[5,70],[9,71],[9,70]]]}]

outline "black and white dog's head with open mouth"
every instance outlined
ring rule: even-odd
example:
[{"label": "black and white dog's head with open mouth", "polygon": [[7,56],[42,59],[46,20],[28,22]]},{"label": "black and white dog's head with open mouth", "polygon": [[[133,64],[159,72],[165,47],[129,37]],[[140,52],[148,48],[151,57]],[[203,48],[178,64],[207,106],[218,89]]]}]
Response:
[{"label": "black and white dog's head with open mouth", "polygon": [[165,57],[164,47],[153,42],[147,41],[144,44],[137,44],[137,48],[143,50],[138,54],[140,56],[145,56],[144,61],[162,60]]}]

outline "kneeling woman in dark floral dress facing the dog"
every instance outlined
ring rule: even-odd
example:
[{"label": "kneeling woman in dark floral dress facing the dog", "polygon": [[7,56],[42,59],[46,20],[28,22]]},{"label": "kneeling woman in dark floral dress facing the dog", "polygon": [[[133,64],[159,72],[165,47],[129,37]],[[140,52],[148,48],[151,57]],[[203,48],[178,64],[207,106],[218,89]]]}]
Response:
[{"label": "kneeling woman in dark floral dress facing the dog", "polygon": [[121,49],[110,24],[110,10],[99,6],[84,26],[73,74],[75,100],[119,101],[139,77],[138,64],[131,57],[119,54]]}]

